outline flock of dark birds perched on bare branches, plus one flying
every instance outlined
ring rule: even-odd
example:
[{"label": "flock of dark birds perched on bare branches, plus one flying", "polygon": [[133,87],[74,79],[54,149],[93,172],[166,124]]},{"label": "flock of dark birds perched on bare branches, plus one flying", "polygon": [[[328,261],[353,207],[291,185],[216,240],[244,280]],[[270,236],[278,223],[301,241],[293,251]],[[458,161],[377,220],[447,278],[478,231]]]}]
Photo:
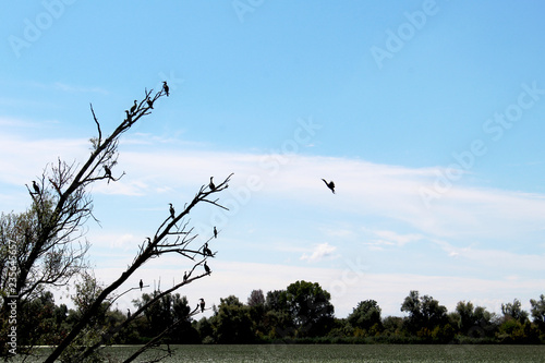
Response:
[{"label": "flock of dark birds perched on bare branches, plus one flying", "polygon": [[[167,84],[166,81],[162,82],[162,90],[165,92],[165,94],[167,95],[167,97],[170,95],[169,94],[169,86]],[[148,108],[150,109],[154,109],[154,100],[150,99],[150,98],[147,98],[146,99],[147,101],[147,106]],[[126,113],[126,121],[129,123],[132,122],[132,117],[135,114],[136,110],[138,109],[138,102],[137,100],[135,99],[134,100],[134,105],[130,108],[130,110],[125,110],[125,113]],[[105,170],[105,177],[108,179],[108,183],[110,183],[110,180],[114,180],[113,177],[112,177],[112,173],[111,173],[111,169],[110,167],[108,167],[107,165],[104,165],[104,170]],[[208,184],[208,187],[210,189],[210,191],[215,191],[216,190],[216,184],[214,184],[214,177],[210,177],[210,182]],[[331,193],[335,194],[335,183],[334,181],[326,181],[325,179],[322,179],[324,181],[324,183],[326,184],[326,186],[331,191]],[[33,190],[35,192],[35,194],[37,195],[40,195],[40,189],[38,186],[38,184],[36,183],[35,180],[33,180]],[[172,203],[169,203],[169,213],[170,213],[170,217],[172,219],[175,219],[175,210],[174,210],[174,206],[172,205]],[[218,230],[216,229],[216,226],[214,227],[214,238],[217,239],[218,238]],[[147,238],[148,240],[148,243],[150,243],[150,239]],[[206,256],[206,257],[214,257],[214,254],[213,252],[210,251],[210,249],[208,249],[208,242],[205,242],[204,246],[203,246],[203,254]],[[204,262],[204,265],[203,265],[206,274],[210,274],[211,273],[211,269],[210,267],[208,266],[208,264],[206,263],[206,261]],[[183,273],[183,281],[187,281],[187,279],[190,278],[191,276],[191,271],[190,271],[190,275],[187,275],[187,271],[184,271]],[[140,290],[142,291],[142,289],[144,288],[144,281],[141,279],[140,282],[138,282],[138,286],[140,286]],[[201,307],[201,312],[204,313],[205,311],[205,301],[203,298],[201,298],[201,302],[197,304],[197,308]],[[131,311],[128,308],[128,317],[131,317]]]}]

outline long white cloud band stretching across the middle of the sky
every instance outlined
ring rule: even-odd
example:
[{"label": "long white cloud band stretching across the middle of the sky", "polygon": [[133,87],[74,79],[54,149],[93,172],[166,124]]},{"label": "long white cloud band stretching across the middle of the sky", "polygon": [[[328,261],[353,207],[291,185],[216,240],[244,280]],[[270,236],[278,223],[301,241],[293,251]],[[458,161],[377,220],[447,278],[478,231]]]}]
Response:
[{"label": "long white cloud band stretching across the middle of the sky", "polygon": [[[13,155],[0,162],[8,171],[3,173],[5,182],[28,180],[58,156],[82,160],[88,153],[86,140],[28,141],[10,135],[0,140],[3,155]],[[122,183],[100,185],[95,192],[153,197],[157,191],[195,190],[206,184],[210,176],[219,180],[234,172],[226,194],[235,199],[244,191],[250,201],[308,206],[327,211],[334,221],[360,221],[361,226],[370,216],[386,218],[412,229],[410,233],[374,231],[375,242],[396,245],[417,241],[422,235],[443,240],[520,240],[543,231],[545,226],[545,196],[541,194],[455,185],[432,209],[426,208],[419,187],[434,174],[419,168],[319,156],[284,155],[283,159],[276,159],[270,155],[195,150],[186,146],[169,150],[153,145],[140,149],[137,145],[125,146],[129,150],[121,150],[120,164],[114,168],[114,173],[126,172]],[[271,160],[279,161],[272,167]],[[23,165],[25,168],[21,168]],[[325,170],[337,184],[335,195],[320,181]],[[330,233],[336,229],[327,228]],[[352,233],[346,226],[341,229],[344,235],[339,238]]]}]

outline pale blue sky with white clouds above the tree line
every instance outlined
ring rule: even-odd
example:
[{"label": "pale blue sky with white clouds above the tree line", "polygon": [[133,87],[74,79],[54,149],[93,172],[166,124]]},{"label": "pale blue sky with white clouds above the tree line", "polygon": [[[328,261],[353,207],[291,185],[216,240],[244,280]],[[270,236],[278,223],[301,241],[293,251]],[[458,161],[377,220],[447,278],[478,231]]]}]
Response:
[{"label": "pale blue sky with white clouds above the tree line", "polygon": [[[450,311],[544,293],[545,32],[540,1],[26,1],[0,23],[0,210],[57,157],[83,161],[144,88],[171,96],[95,185],[89,259],[111,281],[210,176],[234,172],[214,274],[190,301],[283,289],[336,315],[410,290]],[[331,194],[322,178],[334,180]],[[162,259],[162,258],[161,258]],[[168,257],[133,276],[179,281]],[[126,288],[124,287],[124,288]],[[119,307],[131,305],[124,295]],[[60,298],[59,298],[60,299]],[[65,299],[65,298],[64,298]],[[63,300],[64,302],[65,300]]]}]

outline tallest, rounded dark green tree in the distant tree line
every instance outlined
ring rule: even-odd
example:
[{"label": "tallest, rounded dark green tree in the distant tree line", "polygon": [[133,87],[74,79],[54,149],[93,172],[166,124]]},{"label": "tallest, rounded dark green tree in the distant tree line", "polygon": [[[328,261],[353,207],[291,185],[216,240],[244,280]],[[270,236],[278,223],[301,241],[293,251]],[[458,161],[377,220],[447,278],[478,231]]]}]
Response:
[{"label": "tallest, rounded dark green tree in the distant tree line", "polygon": [[334,326],[331,295],[317,282],[296,281],[287,291],[288,311],[295,325],[298,336],[326,336]]}]

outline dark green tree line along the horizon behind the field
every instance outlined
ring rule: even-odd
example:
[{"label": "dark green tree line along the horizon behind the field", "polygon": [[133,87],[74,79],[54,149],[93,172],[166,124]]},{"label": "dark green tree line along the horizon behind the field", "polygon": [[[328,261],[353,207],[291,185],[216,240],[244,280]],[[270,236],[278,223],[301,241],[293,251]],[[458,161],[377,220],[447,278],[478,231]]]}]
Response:
[{"label": "dark green tree line along the horizon behind the field", "polygon": [[[48,291],[28,302],[20,312],[24,315],[20,343],[49,346],[62,341],[83,313],[89,289],[89,285],[78,286],[74,310],[55,304]],[[138,308],[160,293],[143,293],[133,304]],[[465,301],[448,312],[433,297],[412,290],[400,306],[405,316],[384,317],[375,300],[364,300],[346,318],[337,318],[329,292],[317,282],[301,280],[266,294],[253,290],[246,303],[234,295],[222,298],[213,305],[213,316],[199,319],[190,316],[193,308],[186,297],[165,294],[113,335],[109,343],[146,343],[172,322],[180,324],[164,337],[164,343],[544,343],[545,295],[530,302],[530,313],[517,299],[501,304],[501,314]],[[94,335],[94,326],[114,325],[126,318],[126,313],[105,305],[88,334]]]}]

